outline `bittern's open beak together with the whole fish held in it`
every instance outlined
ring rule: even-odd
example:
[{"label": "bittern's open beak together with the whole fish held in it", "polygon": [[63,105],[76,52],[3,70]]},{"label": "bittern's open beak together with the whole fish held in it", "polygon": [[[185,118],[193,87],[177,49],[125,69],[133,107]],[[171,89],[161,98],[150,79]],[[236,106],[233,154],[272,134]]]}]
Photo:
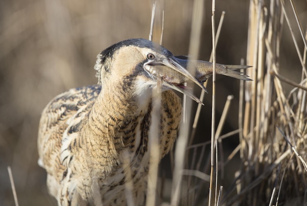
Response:
[{"label": "bittern's open beak together with the whole fish held in it", "polygon": [[[188,63],[191,64],[191,67],[196,68],[194,76],[187,70]],[[247,69],[249,67],[250,66],[245,65],[216,64],[215,69],[217,74],[223,74],[241,80],[251,80],[243,72],[237,71],[238,69]],[[165,57],[160,61],[149,61],[144,64],[144,69],[152,78],[161,79],[162,86],[181,92],[195,100],[197,103],[204,105],[197,96],[184,86],[184,83],[192,81],[207,92],[202,83],[205,82],[213,73],[213,64],[211,62],[188,60],[185,56],[172,56]]]}]

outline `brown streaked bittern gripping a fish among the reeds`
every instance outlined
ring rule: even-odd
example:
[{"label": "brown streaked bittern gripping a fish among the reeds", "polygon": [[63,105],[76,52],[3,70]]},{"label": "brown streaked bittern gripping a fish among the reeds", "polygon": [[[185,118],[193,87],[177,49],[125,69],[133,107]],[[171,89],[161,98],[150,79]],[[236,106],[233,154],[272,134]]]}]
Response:
[{"label": "brown streaked bittern gripping a fish among the reeds", "polygon": [[[211,63],[191,64],[195,76],[185,69],[186,59],[166,48],[145,39],[125,40],[98,55],[98,85],[71,89],[51,100],[40,120],[38,162],[47,170],[47,186],[58,205],[126,205],[124,151],[129,154],[134,203],[144,203],[148,136],[158,134],[161,159],[179,130],[181,103],[172,89],[200,102],[183,83],[191,80],[203,87],[201,82],[212,74]],[[217,73],[249,80],[235,70],[246,68],[216,64]],[[158,84],[159,131],[151,131],[152,93]]]}]

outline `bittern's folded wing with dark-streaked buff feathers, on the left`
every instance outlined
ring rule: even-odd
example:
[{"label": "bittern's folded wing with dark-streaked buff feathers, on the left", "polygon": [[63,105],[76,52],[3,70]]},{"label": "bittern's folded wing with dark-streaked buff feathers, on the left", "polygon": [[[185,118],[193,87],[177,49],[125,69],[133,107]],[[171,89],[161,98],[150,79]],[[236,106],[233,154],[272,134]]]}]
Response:
[{"label": "bittern's folded wing with dark-streaked buff feathers, on the left", "polygon": [[38,163],[50,175],[63,174],[63,146],[77,136],[77,132],[67,133],[75,132],[70,130],[89,112],[100,91],[99,85],[71,89],[56,96],[44,109],[38,131]]}]

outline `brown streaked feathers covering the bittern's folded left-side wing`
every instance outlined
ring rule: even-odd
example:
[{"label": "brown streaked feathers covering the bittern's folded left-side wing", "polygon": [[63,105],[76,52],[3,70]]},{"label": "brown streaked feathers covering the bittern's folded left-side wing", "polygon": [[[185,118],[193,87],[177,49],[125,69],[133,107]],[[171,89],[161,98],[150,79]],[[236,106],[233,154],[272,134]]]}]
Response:
[{"label": "brown streaked feathers covering the bittern's folded left-side wing", "polygon": [[[43,154],[55,154],[57,157],[56,150],[61,147],[62,139],[55,136],[63,135],[71,120],[80,117],[84,105],[92,104],[100,90],[101,86],[98,85],[71,89],[56,96],[46,106],[41,116],[38,135],[38,151],[44,168],[49,169],[54,165],[50,165],[49,160],[44,160]],[[71,126],[73,130],[75,125]]]}]

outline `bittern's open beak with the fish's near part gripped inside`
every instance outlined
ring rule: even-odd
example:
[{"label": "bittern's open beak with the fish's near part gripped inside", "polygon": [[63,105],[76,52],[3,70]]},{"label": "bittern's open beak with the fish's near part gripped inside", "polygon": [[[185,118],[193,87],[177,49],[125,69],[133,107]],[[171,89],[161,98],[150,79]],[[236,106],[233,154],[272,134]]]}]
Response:
[{"label": "bittern's open beak with the fish's near part gripped inside", "polygon": [[191,75],[190,72],[188,72],[186,65],[187,64],[185,63],[180,64],[178,59],[175,57],[166,57],[161,61],[153,60],[145,63],[144,69],[153,78],[162,79],[162,86],[181,92],[192,98],[197,103],[203,104],[198,97],[184,86],[185,82],[192,81],[206,92],[205,87],[193,75]]}]

